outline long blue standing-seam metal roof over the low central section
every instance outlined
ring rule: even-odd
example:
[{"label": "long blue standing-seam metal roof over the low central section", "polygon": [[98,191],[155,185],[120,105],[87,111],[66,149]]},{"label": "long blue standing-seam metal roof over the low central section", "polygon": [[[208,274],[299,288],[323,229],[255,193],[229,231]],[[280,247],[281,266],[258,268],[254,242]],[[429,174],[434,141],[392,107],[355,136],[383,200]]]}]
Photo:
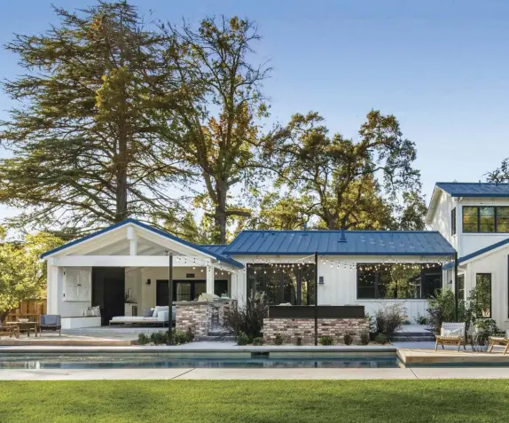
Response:
[{"label": "long blue standing-seam metal roof over the low central section", "polygon": [[[341,235],[346,241],[341,241]],[[454,255],[438,231],[242,231],[227,255]]]}]

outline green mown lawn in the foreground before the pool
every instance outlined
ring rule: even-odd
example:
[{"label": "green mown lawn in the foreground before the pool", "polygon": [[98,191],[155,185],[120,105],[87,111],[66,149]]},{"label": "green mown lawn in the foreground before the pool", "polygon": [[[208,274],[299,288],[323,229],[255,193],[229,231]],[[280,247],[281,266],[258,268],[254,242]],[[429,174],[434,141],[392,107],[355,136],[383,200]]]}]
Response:
[{"label": "green mown lawn in the foreground before the pool", "polygon": [[2,423],[508,422],[507,380],[0,381]]}]

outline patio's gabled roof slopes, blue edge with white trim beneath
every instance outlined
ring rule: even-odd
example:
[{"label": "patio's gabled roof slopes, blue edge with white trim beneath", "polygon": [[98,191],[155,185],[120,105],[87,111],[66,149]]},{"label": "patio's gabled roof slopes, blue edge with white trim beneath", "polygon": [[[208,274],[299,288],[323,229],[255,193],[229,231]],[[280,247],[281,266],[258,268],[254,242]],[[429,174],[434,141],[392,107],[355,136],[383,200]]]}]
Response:
[{"label": "patio's gabled roof slopes, blue edge with white trim beneath", "polygon": [[[225,264],[229,264],[233,267],[242,269],[244,266],[242,263],[237,262],[231,257],[227,257],[226,255],[218,254],[214,249],[209,249],[206,247],[199,246],[197,244],[194,244],[191,241],[187,241],[185,239],[181,239],[176,237],[176,235],[172,235],[171,233],[168,233],[167,231],[162,231],[161,229],[154,228],[153,226],[150,226],[149,224],[142,223],[137,221],[136,219],[126,219],[122,222],[115,223],[111,226],[108,226],[107,228],[104,228],[100,231],[96,231],[94,233],[91,233],[90,235],[86,235],[80,239],[74,239],[73,241],[67,242],[67,244],[64,244],[63,246],[53,248],[50,251],[46,251],[41,255],[41,258],[49,258],[53,255],[59,255],[59,253],[64,253],[66,250],[74,249],[74,247],[78,248],[81,246],[84,246],[85,244],[90,245],[90,243],[98,243],[100,239],[106,238],[111,236],[114,231],[118,231],[121,227],[129,227],[134,226],[137,229],[140,229],[141,231],[147,231],[148,233],[156,234],[161,237],[164,237],[165,239],[169,239],[176,244],[181,245],[182,247],[185,247],[186,249],[191,249],[194,252],[197,252],[200,255],[205,255],[209,258],[215,259],[219,262],[224,262]],[[112,241],[114,242],[114,241]],[[93,244],[91,244],[91,247],[93,249]],[[105,247],[105,246],[103,246]],[[98,246],[97,250],[99,250],[101,247]],[[162,248],[162,246],[161,246]]]}]

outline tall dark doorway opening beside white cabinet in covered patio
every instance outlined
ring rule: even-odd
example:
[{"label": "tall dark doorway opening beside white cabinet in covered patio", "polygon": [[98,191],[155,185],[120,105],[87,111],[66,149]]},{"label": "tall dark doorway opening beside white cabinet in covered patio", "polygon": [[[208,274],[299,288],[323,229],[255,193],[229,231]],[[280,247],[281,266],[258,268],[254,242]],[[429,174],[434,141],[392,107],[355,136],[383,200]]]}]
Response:
[{"label": "tall dark doorway opening beside white cabinet in covered patio", "polygon": [[92,268],[92,306],[101,309],[101,325],[124,315],[125,270],[123,267]]}]

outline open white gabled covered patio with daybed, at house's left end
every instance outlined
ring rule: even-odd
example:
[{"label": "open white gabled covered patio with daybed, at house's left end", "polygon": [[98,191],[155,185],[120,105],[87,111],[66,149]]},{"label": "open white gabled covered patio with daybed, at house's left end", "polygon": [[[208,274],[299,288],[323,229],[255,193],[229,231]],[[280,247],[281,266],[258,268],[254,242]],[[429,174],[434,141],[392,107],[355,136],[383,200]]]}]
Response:
[{"label": "open white gabled covered patio with daybed, at house's left end", "polygon": [[43,255],[47,312],[62,317],[63,329],[108,325],[113,317],[148,317],[156,306],[168,306],[169,280],[173,302],[192,302],[201,294],[237,298],[243,265],[220,250],[133,219],[114,224]]}]

